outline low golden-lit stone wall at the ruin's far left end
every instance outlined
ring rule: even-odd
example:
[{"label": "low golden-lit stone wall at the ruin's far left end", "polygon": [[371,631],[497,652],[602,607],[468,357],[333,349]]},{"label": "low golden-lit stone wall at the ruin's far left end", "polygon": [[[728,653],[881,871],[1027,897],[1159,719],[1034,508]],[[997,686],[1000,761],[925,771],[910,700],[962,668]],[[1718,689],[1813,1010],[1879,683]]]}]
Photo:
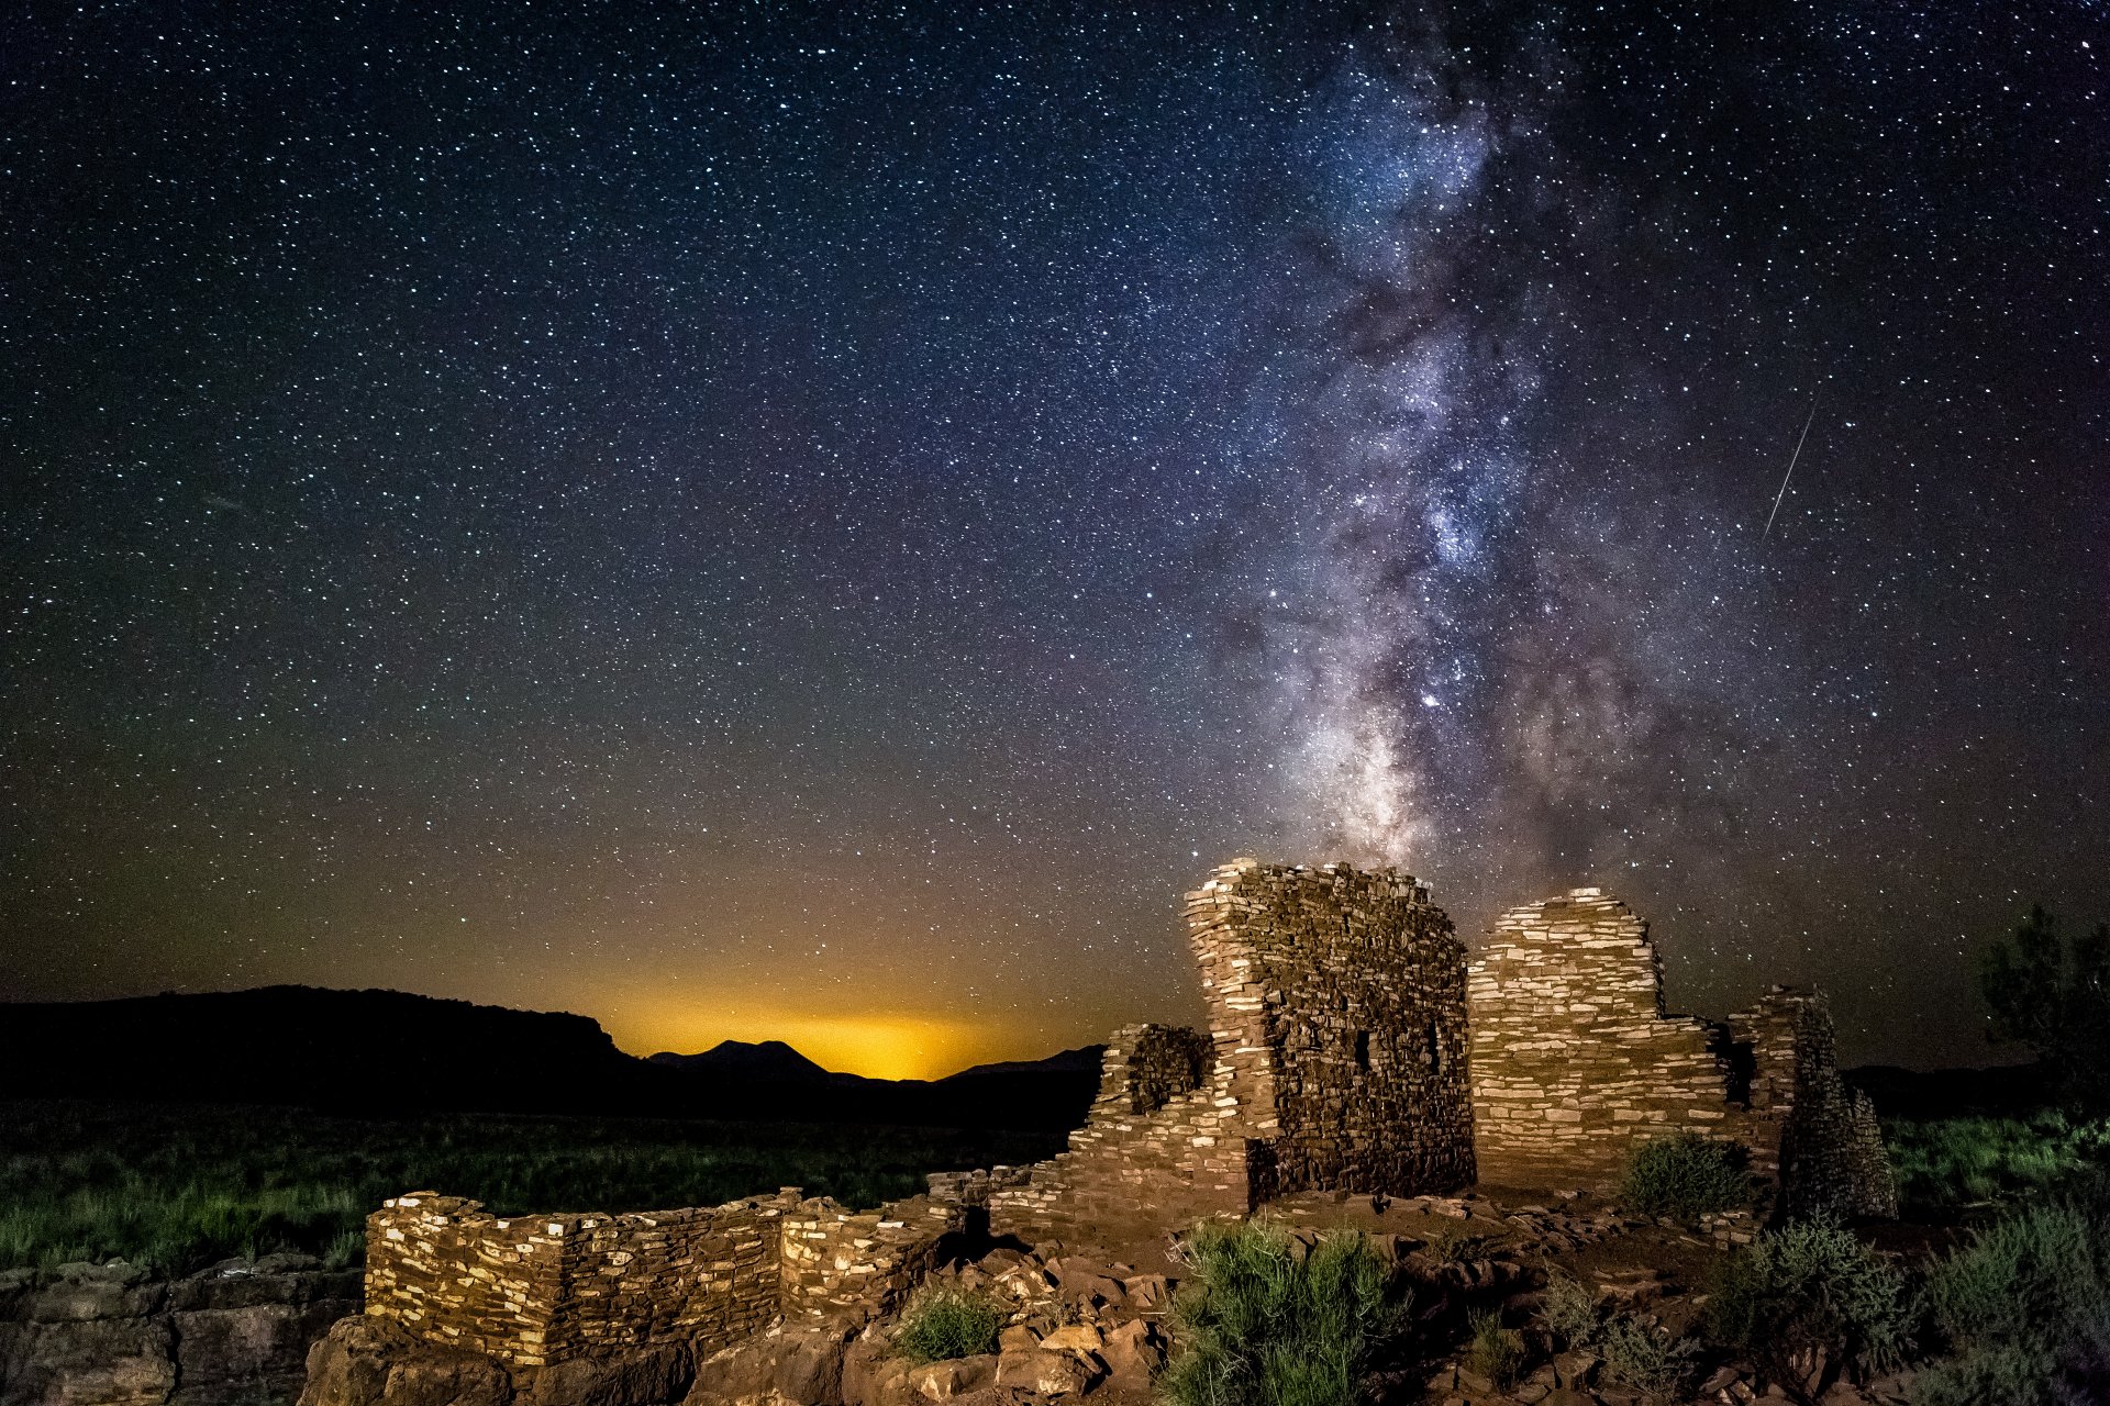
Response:
[{"label": "low golden-lit stone wall at the ruin's far left end", "polygon": [[509,1368],[675,1341],[709,1353],[779,1317],[893,1307],[964,1212],[914,1197],[857,1214],[787,1187],[698,1210],[500,1218],[418,1191],[367,1216],[365,1311]]}]

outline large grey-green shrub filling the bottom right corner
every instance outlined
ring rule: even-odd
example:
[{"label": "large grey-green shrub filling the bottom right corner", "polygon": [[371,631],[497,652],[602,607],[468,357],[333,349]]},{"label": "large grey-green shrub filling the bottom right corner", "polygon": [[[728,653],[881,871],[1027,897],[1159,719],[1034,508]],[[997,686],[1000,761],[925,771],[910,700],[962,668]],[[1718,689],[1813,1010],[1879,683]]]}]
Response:
[{"label": "large grey-green shrub filling the bottom right corner", "polygon": [[1950,1353],[1924,1406],[2110,1400],[2110,1197],[2002,1216],[1935,1265],[1926,1307]]}]

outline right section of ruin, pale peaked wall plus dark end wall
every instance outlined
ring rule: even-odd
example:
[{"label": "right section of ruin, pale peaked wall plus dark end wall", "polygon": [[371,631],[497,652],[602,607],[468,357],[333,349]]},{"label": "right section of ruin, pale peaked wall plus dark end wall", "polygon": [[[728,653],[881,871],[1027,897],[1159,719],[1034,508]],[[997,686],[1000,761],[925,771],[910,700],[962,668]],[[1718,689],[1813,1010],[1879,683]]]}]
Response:
[{"label": "right section of ruin, pale peaked wall plus dark end wall", "polygon": [[1775,987],[1726,1027],[1669,1016],[1648,925],[1585,887],[1504,913],[1466,1003],[1483,1180],[1612,1185],[1642,1138],[1699,1132],[1749,1149],[1777,1210],[1897,1214],[1819,993]]}]

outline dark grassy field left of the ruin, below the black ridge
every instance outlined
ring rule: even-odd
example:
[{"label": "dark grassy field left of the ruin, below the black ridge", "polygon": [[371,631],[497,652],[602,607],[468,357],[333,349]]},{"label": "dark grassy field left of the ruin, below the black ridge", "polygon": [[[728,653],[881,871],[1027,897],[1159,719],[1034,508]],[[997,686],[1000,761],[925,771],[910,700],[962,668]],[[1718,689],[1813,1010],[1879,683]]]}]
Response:
[{"label": "dark grassy field left of the ruin, below the black ridge", "polygon": [[924,1172],[1034,1161],[1061,1134],[298,1109],[0,1105],[0,1269],[127,1258],[188,1273],[274,1250],[352,1267],[401,1191],[498,1214],[717,1206],[804,1187],[850,1206]]}]

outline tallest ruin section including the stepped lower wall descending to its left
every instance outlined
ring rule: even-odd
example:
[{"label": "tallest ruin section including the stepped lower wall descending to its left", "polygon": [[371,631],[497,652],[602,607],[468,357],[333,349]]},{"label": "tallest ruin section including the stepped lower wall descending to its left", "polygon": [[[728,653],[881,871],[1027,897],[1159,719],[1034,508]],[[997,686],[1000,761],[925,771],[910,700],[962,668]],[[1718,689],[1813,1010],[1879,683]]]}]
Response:
[{"label": "tallest ruin section including the stepped lower wall descending to its left", "polygon": [[1076,1242],[1283,1191],[1473,1178],[1464,949],[1428,890],[1234,860],[1186,913],[1209,1035],[1116,1031],[1089,1121],[990,1193],[994,1231]]}]

